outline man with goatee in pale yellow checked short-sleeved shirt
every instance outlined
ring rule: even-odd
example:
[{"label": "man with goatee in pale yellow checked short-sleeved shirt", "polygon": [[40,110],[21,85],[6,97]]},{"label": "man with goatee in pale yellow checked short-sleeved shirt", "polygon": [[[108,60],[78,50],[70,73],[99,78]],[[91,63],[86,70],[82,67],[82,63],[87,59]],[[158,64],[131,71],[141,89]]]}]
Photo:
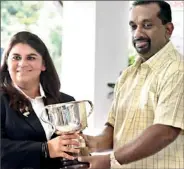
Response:
[{"label": "man with goatee in pale yellow checked short-sleeved shirt", "polygon": [[118,79],[103,133],[84,135],[90,168],[184,168],[184,61],[169,40],[174,26],[164,1],[135,1],[129,25],[138,58]]}]

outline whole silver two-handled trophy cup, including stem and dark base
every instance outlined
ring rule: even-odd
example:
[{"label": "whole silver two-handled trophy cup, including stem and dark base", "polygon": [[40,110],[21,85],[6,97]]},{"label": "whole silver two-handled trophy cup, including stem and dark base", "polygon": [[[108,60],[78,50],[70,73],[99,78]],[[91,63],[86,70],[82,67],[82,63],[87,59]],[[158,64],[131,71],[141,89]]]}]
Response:
[{"label": "whole silver two-handled trophy cup, including stem and dark base", "polygon": [[[41,119],[52,126],[53,133],[61,135],[82,132],[88,127],[87,118],[93,111],[93,104],[90,100],[71,101],[66,103],[51,104],[44,107]],[[47,114],[47,116],[45,116]],[[47,117],[47,118],[46,118]],[[80,156],[88,156],[88,148],[82,137],[79,139]],[[75,156],[75,154],[72,154]],[[88,168],[88,163],[78,160],[61,159],[61,168]]]}]

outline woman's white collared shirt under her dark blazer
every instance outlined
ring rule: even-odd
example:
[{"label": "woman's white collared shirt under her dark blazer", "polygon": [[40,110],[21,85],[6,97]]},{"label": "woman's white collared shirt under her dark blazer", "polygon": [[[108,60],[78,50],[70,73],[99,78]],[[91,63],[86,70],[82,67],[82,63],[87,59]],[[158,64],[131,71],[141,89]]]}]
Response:
[{"label": "woman's white collared shirt under her dark blazer", "polygon": [[31,105],[33,107],[33,110],[34,110],[35,114],[37,115],[38,119],[40,120],[40,122],[41,122],[41,124],[43,126],[43,129],[45,131],[47,140],[49,140],[51,138],[52,134],[54,133],[54,131],[53,131],[53,128],[52,128],[52,126],[50,124],[45,123],[41,119],[41,115],[42,115],[42,118],[44,118],[45,120],[48,120],[48,116],[47,116],[46,111],[44,111],[42,113],[42,111],[44,110],[44,106],[45,106],[42,98],[43,97],[46,97],[46,96],[45,96],[45,92],[43,91],[43,88],[42,88],[41,84],[40,84],[40,96],[37,96],[34,99],[32,99],[29,96],[27,96],[17,85],[14,84],[14,86],[22,94],[24,94],[29,99],[29,101],[31,102]]}]

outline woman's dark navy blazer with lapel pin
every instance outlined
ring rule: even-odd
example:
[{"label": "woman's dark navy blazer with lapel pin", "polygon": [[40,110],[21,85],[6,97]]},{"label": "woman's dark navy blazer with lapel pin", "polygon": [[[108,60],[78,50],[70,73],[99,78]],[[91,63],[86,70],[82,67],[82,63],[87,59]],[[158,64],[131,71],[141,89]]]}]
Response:
[{"label": "woman's dark navy blazer with lapel pin", "polygon": [[[74,101],[61,93],[62,102]],[[2,169],[57,169],[58,159],[43,159],[41,144],[45,141],[44,129],[34,111],[28,117],[9,106],[7,94],[0,93],[1,114],[1,167]],[[54,137],[54,136],[53,136]]]}]

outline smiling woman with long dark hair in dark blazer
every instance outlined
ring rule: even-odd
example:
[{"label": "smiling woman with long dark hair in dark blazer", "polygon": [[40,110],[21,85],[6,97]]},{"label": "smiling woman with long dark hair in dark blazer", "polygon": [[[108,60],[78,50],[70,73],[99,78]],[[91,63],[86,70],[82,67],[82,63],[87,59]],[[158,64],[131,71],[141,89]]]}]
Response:
[{"label": "smiling woman with long dark hair in dark blazer", "polygon": [[[60,158],[79,153],[76,134],[52,135],[41,119],[45,105],[74,98],[59,92],[58,74],[43,41],[30,32],[15,34],[0,70],[2,169],[61,167]],[[46,112],[44,115],[47,117]]]}]

